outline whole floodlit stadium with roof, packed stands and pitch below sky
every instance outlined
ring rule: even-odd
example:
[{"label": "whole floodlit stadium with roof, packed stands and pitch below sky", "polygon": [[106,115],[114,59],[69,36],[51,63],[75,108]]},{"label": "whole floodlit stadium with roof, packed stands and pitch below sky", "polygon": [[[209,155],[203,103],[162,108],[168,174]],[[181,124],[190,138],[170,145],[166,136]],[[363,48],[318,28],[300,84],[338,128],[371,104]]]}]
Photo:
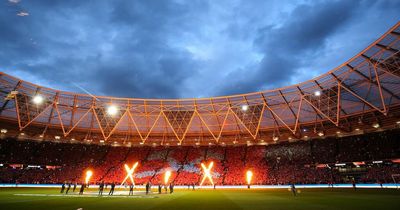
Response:
[{"label": "whole floodlit stadium with roof, packed stands and pitch below sky", "polygon": [[1,208],[397,209],[399,52],[397,22],[311,80],[208,98],[1,72]]}]

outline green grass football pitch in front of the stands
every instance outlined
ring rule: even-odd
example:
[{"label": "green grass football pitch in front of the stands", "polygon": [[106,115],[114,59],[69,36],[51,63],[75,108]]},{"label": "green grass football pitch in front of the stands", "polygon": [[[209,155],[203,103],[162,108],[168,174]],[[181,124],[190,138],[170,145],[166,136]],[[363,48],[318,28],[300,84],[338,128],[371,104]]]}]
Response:
[{"label": "green grass football pitch in front of the stands", "polygon": [[[0,209],[400,209],[400,190],[395,189],[300,189],[294,197],[287,189],[179,190],[173,194],[117,190],[98,197],[96,191],[64,195],[59,189],[0,188]],[[105,191],[108,192],[108,191]],[[107,194],[107,193],[105,193]]]}]

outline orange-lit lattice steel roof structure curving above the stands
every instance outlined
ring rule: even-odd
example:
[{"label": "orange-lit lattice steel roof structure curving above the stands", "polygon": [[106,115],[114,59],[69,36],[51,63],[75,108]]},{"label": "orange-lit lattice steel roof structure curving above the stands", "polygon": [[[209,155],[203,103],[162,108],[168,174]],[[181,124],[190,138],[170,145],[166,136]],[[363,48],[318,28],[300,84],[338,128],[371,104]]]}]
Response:
[{"label": "orange-lit lattice steel roof structure curving above the stands", "polygon": [[[129,145],[269,143],[391,128],[400,124],[399,39],[400,22],[317,78],[212,98],[94,97],[1,73],[0,125],[21,138]],[[37,95],[43,102],[33,102]]]}]

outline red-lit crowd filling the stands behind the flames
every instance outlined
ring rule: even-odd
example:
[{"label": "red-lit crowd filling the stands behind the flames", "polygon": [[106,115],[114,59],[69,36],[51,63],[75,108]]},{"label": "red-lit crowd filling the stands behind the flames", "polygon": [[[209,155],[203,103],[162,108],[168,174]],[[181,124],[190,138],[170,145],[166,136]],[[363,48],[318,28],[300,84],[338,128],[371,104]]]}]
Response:
[{"label": "red-lit crowd filling the stands behind the flames", "polygon": [[[252,184],[342,183],[349,176],[358,182],[392,182],[400,174],[398,130],[343,138],[285,142],[268,146],[210,147],[113,147],[4,139],[0,141],[0,182],[74,183],[84,172],[94,171],[93,183],[120,183],[125,164],[134,171],[135,184],[163,184],[166,171],[175,185],[199,184],[201,163],[213,162],[216,185],[245,185],[245,174],[253,172]],[[383,163],[372,163],[385,160]],[[370,164],[367,164],[371,162]],[[353,162],[361,162],[354,165]],[[347,163],[336,167],[337,163]],[[210,184],[205,182],[205,184]]]}]

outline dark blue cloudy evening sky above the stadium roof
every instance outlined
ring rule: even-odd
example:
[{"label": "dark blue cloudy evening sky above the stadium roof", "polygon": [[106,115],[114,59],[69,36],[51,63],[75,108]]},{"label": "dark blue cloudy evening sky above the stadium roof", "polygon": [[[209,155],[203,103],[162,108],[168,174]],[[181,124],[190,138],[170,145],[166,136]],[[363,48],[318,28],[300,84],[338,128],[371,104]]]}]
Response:
[{"label": "dark blue cloudy evening sky above the stadium roof", "polygon": [[398,0],[0,0],[0,71],[95,95],[246,93],[338,66],[399,11]]}]

